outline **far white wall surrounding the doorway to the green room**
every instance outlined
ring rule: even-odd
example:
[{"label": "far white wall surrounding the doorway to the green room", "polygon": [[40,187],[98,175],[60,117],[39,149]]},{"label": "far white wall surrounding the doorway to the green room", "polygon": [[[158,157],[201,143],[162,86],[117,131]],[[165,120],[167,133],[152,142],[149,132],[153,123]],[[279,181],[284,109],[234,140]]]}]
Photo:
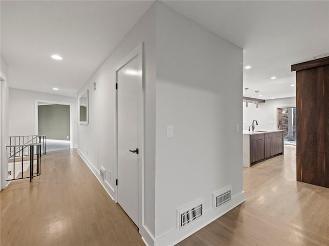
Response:
[{"label": "far white wall surrounding the doorway to the green room", "polygon": [[35,99],[73,104],[73,147],[77,147],[77,98],[36,91],[9,89],[9,136],[35,135]]}]

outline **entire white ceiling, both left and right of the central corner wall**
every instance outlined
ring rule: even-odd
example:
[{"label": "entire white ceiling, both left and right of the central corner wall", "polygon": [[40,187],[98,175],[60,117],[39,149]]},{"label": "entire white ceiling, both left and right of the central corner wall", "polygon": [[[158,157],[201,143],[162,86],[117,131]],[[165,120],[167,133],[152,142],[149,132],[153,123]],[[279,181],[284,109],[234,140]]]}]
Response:
[{"label": "entire white ceiling, both left and right of the central corner wall", "polygon": [[[1,1],[10,86],[76,96],[152,2]],[[329,1],[162,2],[244,49],[248,96],[295,96],[290,65],[329,53]]]}]

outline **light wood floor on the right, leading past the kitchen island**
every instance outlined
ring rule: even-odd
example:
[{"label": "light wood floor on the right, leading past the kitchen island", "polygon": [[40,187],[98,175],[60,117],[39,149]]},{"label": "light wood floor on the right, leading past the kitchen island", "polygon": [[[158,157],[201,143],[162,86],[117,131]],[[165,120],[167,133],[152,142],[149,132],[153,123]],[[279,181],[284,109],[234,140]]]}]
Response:
[{"label": "light wood floor on the right, leading past the kitchen island", "polygon": [[296,147],[284,151],[244,168],[246,201],[178,245],[328,246],[329,189],[297,182]]}]

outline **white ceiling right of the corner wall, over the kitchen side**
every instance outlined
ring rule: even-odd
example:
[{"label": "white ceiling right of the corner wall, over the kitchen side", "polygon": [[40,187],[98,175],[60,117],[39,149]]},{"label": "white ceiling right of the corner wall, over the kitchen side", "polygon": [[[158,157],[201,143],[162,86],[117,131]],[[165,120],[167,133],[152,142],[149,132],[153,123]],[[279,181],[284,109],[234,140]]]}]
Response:
[{"label": "white ceiling right of the corner wall, over the kitchen side", "polygon": [[290,65],[329,53],[329,1],[164,3],[244,49],[244,66],[252,67],[244,70],[248,96],[256,90],[263,99],[295,96]]}]

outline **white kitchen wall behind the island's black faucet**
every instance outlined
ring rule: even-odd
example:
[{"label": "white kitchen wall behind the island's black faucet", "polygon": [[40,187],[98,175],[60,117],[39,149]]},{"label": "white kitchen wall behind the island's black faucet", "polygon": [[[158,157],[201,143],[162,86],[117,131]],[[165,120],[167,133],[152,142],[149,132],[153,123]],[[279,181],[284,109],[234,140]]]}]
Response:
[{"label": "white kitchen wall behind the island's black faucet", "polygon": [[255,104],[248,107],[243,104],[243,130],[249,130],[252,120],[257,120],[258,126],[255,129],[277,130],[278,127],[278,107],[296,107],[296,97],[266,100],[259,104],[258,109]]}]

